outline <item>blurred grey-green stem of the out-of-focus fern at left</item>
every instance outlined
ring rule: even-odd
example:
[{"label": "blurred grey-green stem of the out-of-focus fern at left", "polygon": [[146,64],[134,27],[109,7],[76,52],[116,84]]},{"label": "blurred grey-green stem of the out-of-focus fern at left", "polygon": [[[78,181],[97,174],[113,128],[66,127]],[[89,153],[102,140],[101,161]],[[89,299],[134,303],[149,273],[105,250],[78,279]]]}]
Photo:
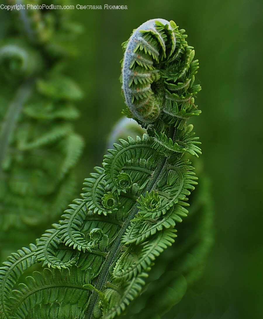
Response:
[{"label": "blurred grey-green stem of the out-of-focus fern at left", "polygon": [[3,162],[8,151],[8,144],[15,130],[15,124],[19,118],[23,104],[29,97],[33,86],[33,80],[26,80],[17,90],[14,99],[9,104],[0,133],[0,181],[3,175]]}]

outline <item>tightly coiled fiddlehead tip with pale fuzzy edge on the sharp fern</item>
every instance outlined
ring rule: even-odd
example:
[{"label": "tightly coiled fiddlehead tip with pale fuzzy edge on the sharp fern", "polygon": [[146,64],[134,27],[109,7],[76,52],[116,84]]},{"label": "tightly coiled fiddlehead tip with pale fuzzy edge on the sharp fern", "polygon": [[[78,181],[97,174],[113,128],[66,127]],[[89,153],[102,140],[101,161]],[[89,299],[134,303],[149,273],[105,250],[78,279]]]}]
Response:
[{"label": "tightly coiled fiddlehead tip with pale fuzzy edge on the sharp fern", "polygon": [[193,85],[198,62],[193,61],[194,50],[183,33],[173,21],[152,19],[123,43],[124,99],[130,117],[140,123],[162,119],[174,124],[200,113],[193,104],[200,90]]}]

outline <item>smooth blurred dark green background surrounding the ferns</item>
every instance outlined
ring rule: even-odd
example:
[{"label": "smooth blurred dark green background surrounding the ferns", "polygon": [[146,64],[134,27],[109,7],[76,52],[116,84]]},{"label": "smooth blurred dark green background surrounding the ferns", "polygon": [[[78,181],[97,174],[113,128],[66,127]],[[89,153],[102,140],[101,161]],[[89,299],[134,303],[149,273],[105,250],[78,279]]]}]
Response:
[{"label": "smooth blurred dark green background surrounding the ferns", "polygon": [[[87,5],[80,1],[74,4]],[[262,0],[114,1],[127,10],[72,11],[83,26],[74,41],[78,57],[68,74],[82,87],[77,130],[86,139],[79,164],[83,178],[101,165],[107,134],[125,107],[119,83],[121,43],[148,19],[174,20],[186,30],[200,69],[202,86],[194,120],[201,156],[211,178],[215,244],[206,272],[181,301],[196,309],[180,319],[261,318],[263,314],[262,241]],[[199,305],[199,306],[198,306]],[[201,305],[201,306],[200,306]],[[177,318],[177,316],[176,316]],[[179,317],[178,317],[179,318]]]}]

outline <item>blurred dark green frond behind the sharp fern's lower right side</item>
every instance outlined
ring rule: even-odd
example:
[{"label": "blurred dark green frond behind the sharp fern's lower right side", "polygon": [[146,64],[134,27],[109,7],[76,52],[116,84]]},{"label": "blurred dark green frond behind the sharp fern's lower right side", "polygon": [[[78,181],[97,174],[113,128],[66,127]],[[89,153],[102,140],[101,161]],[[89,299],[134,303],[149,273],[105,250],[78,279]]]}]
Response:
[{"label": "blurred dark green frond behind the sharp fern's lower right side", "polygon": [[[213,245],[214,233],[210,185],[204,174],[189,201],[188,218],[178,229],[176,244],[155,260],[146,281],[147,288],[138,302],[135,301],[128,308],[128,318],[152,318],[151,315],[173,318],[178,307],[175,305],[187,287],[202,275],[207,254]],[[141,309],[140,305],[145,307]]]}]

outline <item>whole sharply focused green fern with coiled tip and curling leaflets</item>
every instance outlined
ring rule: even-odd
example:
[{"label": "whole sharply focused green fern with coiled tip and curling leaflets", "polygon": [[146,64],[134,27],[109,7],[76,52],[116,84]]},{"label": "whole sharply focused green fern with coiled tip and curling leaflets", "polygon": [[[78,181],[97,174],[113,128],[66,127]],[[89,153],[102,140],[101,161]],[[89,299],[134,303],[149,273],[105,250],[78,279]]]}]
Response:
[{"label": "whole sharply focused green fern with coiled tip and curling leaflets", "polygon": [[[208,249],[211,236],[206,231],[198,235],[205,226],[188,225],[184,241],[174,245],[174,257],[165,255],[176,240],[175,226],[188,214],[188,197],[197,184],[187,154],[201,153],[193,127],[186,125],[188,117],[200,112],[192,97],[199,90],[193,86],[198,63],[185,37],[173,21],[155,19],[124,43],[121,82],[128,106],[124,113],[147,133],[114,144],[102,167],[95,167],[85,180],[82,198],[69,205],[59,223],[36,241],[36,247],[24,248],[4,263],[1,318],[113,319],[125,312],[136,318],[159,316],[180,300],[187,282],[198,277],[198,265],[191,265],[185,253],[202,250],[202,240],[209,242]],[[44,145],[49,136],[35,140]],[[207,220],[203,206],[195,199],[197,220],[202,216]],[[164,266],[176,263],[184,275],[163,274],[164,269],[160,272],[157,267],[159,279],[151,279],[154,263],[160,266],[160,254],[166,256]],[[199,255],[201,262],[206,251]],[[20,282],[26,267],[36,261],[43,271]],[[164,292],[160,307],[151,311],[147,304],[156,294],[151,285],[142,293],[147,280],[155,280]],[[127,308],[141,293],[146,308]]]}]

